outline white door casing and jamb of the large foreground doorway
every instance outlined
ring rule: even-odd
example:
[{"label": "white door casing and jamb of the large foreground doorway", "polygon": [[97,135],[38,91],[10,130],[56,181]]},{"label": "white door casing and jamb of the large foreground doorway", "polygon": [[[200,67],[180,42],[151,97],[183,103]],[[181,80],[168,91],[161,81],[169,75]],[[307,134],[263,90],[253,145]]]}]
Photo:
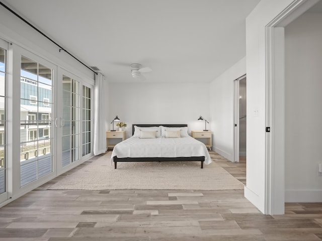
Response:
[{"label": "white door casing and jamb of the large foreground doorway", "polygon": [[284,214],[285,116],[284,26],[318,1],[295,0],[266,27],[265,214]]}]

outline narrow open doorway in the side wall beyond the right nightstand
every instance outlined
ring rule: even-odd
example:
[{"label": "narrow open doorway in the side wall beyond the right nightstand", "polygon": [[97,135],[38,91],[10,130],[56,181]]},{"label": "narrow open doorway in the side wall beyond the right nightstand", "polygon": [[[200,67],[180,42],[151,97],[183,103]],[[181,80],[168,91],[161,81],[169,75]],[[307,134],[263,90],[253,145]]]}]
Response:
[{"label": "narrow open doorway in the side wall beyond the right nightstand", "polygon": [[234,162],[246,161],[246,75],[234,80]]}]

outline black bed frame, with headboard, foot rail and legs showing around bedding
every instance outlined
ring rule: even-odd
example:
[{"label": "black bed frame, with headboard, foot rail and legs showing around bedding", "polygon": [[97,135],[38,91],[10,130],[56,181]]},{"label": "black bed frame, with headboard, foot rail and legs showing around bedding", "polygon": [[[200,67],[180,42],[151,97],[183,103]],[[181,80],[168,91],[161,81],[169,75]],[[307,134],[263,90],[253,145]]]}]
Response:
[{"label": "black bed frame, with headboard, foot rail and legs showing around bedding", "polygon": [[[134,135],[134,126],[137,127],[187,127],[188,125],[183,124],[160,124],[160,125],[150,125],[150,124],[143,124],[143,125],[132,125],[132,135]],[[113,157],[114,168],[116,169],[117,162],[178,162],[178,161],[190,161],[190,162],[200,162],[201,168],[203,168],[203,162],[205,161],[205,157],[126,157],[126,158],[118,158]]]}]

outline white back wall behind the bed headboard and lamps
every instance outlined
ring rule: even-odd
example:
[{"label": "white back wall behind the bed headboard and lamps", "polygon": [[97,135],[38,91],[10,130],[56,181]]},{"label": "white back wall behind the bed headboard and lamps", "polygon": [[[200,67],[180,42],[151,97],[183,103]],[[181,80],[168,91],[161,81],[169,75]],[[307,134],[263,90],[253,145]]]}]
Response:
[{"label": "white back wall behind the bed headboard and lamps", "polygon": [[202,115],[210,122],[209,84],[109,83],[109,123],[115,115],[128,125],[127,137],[132,124],[188,124],[189,132],[203,130],[205,123],[197,119]]}]

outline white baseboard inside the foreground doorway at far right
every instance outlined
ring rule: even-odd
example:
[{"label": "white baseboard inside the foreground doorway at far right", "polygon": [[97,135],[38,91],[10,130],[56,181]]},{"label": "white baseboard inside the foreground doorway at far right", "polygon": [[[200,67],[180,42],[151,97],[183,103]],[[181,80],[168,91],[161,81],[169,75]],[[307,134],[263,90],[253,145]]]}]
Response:
[{"label": "white baseboard inside the foreground doorway at far right", "polygon": [[322,190],[285,190],[285,202],[322,202]]}]

